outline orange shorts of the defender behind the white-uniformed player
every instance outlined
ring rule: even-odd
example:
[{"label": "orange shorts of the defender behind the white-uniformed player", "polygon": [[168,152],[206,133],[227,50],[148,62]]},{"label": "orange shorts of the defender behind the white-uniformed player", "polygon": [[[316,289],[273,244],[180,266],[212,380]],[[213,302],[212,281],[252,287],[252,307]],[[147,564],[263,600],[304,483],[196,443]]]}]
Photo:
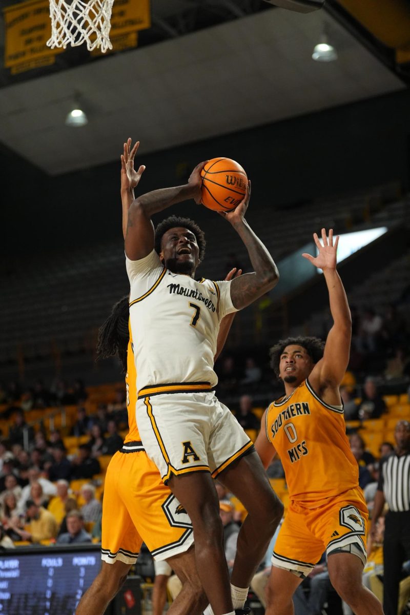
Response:
[{"label": "orange shorts of the defender behind the white-uniformed player", "polygon": [[194,542],[190,518],[141,442],[124,446],[106,473],[101,559],[133,564],[142,542],[159,561],[185,552]]}]

